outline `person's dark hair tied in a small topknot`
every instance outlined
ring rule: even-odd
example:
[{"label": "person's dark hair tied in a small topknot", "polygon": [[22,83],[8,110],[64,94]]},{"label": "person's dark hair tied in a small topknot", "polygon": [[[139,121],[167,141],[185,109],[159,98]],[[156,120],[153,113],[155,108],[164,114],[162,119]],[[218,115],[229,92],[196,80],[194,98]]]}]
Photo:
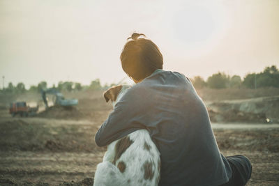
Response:
[{"label": "person's dark hair tied in a small topknot", "polygon": [[120,55],[124,72],[135,80],[151,75],[156,69],[163,69],[163,56],[151,40],[139,38],[143,33],[133,33]]}]

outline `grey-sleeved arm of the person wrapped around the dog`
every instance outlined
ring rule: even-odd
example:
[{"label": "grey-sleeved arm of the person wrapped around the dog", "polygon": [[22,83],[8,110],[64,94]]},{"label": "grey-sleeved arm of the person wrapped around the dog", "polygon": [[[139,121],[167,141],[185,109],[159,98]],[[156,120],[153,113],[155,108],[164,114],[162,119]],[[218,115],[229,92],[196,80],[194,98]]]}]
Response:
[{"label": "grey-sleeved arm of the person wrapped around the dog", "polygon": [[114,110],[96,133],[96,144],[107,146],[116,139],[144,128],[140,122],[146,111],[143,105],[146,106],[144,97],[139,96],[139,91],[129,90],[116,103]]}]

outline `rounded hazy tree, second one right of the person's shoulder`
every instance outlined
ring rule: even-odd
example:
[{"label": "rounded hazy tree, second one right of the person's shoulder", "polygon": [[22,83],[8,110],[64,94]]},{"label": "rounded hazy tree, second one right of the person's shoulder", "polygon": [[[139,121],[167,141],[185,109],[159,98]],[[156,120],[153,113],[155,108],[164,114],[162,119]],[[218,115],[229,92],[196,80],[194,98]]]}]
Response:
[{"label": "rounded hazy tree, second one right of the person's shoulder", "polygon": [[228,84],[229,77],[221,72],[213,74],[207,79],[207,85],[209,88],[226,88]]}]

